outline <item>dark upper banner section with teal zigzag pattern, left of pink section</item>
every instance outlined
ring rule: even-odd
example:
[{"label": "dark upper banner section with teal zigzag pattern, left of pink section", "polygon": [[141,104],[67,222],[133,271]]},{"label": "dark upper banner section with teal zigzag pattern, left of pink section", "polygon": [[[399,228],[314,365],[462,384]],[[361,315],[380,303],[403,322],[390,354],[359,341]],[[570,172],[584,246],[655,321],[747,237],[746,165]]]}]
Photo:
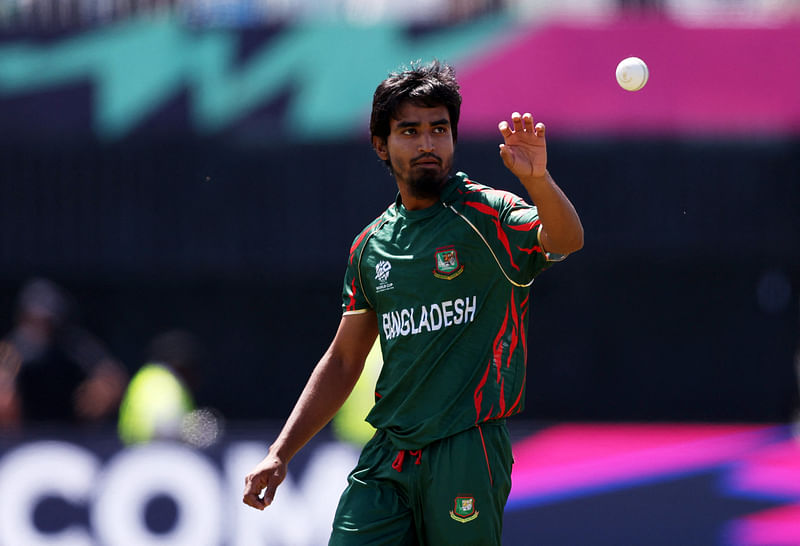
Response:
[{"label": "dark upper banner section with teal zigzag pattern, left of pink section", "polygon": [[[242,30],[195,29],[167,17],[0,40],[0,128],[56,126],[112,141],[138,130],[350,137],[366,131],[372,92],[388,72],[417,59],[457,66],[506,23],[500,15],[424,32],[310,23]],[[70,89],[78,91],[64,95]],[[20,116],[20,105],[32,114]],[[73,119],[87,107],[89,119]]]}]

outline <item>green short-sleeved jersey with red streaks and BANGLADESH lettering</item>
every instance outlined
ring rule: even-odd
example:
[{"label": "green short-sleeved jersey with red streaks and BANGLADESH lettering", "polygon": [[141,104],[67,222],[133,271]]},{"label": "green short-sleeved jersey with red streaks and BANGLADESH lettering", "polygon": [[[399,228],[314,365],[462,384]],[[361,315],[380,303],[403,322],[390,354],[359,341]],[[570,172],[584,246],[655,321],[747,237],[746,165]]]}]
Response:
[{"label": "green short-sleeved jersey with red streaks and BANGLADESH lettering", "polygon": [[367,416],[398,449],[419,449],[522,411],[530,285],[551,261],[538,212],[452,177],[410,211],[398,196],[354,240],[344,312],[373,309],[383,352]]}]

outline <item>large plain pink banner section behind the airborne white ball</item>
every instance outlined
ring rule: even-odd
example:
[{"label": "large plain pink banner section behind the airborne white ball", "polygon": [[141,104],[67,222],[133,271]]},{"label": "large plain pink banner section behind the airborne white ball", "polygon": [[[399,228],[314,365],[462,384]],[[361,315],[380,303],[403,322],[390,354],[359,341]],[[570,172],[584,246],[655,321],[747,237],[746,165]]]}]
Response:
[{"label": "large plain pink banner section behind the airborne white ball", "polygon": [[[462,134],[489,134],[530,111],[551,136],[800,134],[800,24],[687,28],[666,20],[510,31],[459,71]],[[625,91],[615,69],[644,59],[647,85]]]}]

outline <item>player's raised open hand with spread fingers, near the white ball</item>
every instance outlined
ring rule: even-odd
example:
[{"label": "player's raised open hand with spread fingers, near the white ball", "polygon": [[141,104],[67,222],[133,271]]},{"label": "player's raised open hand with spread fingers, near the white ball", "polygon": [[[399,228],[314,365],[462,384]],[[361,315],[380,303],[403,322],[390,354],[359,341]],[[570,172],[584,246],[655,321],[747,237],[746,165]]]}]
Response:
[{"label": "player's raised open hand with spread fingers, near the white ball", "polygon": [[547,144],[544,139],[544,123],[533,124],[529,112],[511,114],[512,126],[503,120],[498,124],[503,144],[500,157],[503,164],[519,179],[544,176],[547,169]]}]

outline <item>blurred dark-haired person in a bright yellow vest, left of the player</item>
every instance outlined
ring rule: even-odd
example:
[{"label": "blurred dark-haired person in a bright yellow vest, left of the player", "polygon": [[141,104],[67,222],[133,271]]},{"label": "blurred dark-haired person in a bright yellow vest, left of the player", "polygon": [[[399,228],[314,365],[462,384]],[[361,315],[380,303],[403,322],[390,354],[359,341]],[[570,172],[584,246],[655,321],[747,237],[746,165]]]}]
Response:
[{"label": "blurred dark-haired person in a bright yellow vest, left of the player", "polygon": [[183,441],[206,447],[219,437],[217,412],[196,408],[206,351],[186,330],[154,337],[146,363],[134,374],[119,411],[119,437],[125,444]]}]

